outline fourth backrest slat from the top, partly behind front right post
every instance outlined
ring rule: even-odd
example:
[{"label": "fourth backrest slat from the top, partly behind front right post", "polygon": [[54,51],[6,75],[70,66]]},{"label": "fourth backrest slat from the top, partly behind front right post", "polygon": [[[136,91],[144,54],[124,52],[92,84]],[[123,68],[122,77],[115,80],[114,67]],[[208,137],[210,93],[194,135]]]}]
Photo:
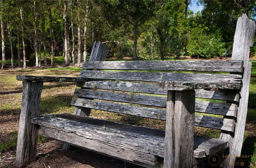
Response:
[{"label": "fourth backrest slat from the top, partly behind front right post", "polygon": [[[126,93],[93,91],[88,89],[75,89],[74,94],[75,96],[84,98],[110,100],[166,108],[166,97],[134,94],[131,98],[131,95]],[[230,103],[216,103],[196,100],[195,105],[196,112],[217,114],[223,116],[236,116],[235,109],[236,104]]]}]

